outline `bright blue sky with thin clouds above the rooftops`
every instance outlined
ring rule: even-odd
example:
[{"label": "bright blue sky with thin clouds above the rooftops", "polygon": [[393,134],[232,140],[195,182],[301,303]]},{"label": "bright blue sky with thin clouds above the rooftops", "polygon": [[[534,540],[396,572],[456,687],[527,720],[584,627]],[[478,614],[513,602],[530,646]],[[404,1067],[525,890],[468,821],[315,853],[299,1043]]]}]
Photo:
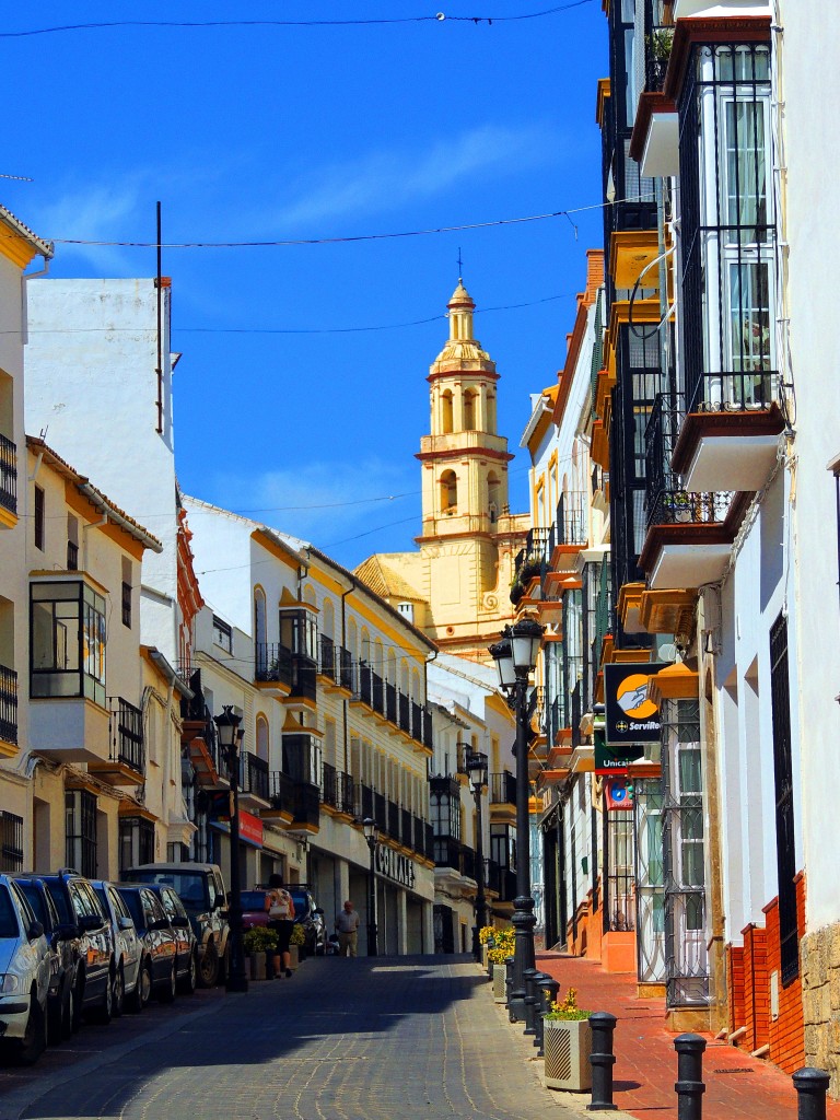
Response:
[{"label": "bright blue sky with thin clouds above the rooftops", "polygon": [[[47,239],[271,241],[495,222],[600,202],[598,0],[535,19],[345,27],[69,22],[511,17],[550,0],[20,6],[4,18],[2,200]],[[138,12],[141,11],[141,16]],[[11,102],[10,102],[11,103]],[[412,547],[429,364],[458,279],[502,375],[517,452],[529,394],[562,365],[599,209],[329,245],[165,250],[172,277],[176,460],[188,493],[355,566]],[[152,276],[155,251],[57,245],[62,277]],[[553,298],[560,297],[560,298]],[[511,305],[517,309],[492,310]],[[396,326],[416,324],[412,326]],[[376,327],[389,329],[347,330]],[[391,329],[393,327],[393,329]],[[58,448],[60,451],[60,448]],[[75,464],[84,470],[84,464]],[[95,483],[95,479],[93,479]],[[134,512],[134,511],[131,511]],[[141,517],[142,511],[136,511]]]}]

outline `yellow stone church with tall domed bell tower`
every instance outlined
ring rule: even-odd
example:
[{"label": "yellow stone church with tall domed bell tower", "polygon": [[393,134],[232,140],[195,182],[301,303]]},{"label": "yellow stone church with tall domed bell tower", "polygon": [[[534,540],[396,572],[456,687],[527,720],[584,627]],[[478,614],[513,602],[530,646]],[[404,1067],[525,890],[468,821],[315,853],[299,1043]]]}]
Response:
[{"label": "yellow stone church with tall domed bell tower", "polygon": [[370,557],[356,573],[441,648],[474,661],[513,618],[513,561],[529,528],[511,515],[507,464],[496,431],[498,374],[473,334],[475,304],[458,281],[449,338],[429,371],[430,435],[420,440],[422,530],[418,552]]}]

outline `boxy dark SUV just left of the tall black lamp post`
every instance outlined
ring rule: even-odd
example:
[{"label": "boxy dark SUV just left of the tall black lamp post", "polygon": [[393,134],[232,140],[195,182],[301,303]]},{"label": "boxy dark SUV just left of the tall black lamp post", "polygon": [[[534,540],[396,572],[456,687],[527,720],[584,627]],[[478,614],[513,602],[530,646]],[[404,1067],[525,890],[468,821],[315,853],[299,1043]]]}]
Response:
[{"label": "boxy dark SUV just left of the tall black lamp post", "polygon": [[128,883],[161,883],[174,887],[189,915],[198,948],[198,982],[213,988],[226,971],[227,917],[222,871],[215,864],[143,864],[132,867]]}]

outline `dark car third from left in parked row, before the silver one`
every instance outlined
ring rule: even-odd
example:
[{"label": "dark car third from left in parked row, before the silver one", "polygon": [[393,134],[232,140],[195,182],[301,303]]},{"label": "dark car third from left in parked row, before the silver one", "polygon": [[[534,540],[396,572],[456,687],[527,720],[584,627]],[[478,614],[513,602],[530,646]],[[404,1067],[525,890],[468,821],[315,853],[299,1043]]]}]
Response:
[{"label": "dark car third from left in parked row, before the silver one", "polygon": [[73,1014],[90,1015],[100,1023],[110,1023],[113,1015],[116,958],[111,923],[90,881],[74,871],[41,875],[49,897],[58,911],[60,924],[77,941],[77,960],[73,989]]}]

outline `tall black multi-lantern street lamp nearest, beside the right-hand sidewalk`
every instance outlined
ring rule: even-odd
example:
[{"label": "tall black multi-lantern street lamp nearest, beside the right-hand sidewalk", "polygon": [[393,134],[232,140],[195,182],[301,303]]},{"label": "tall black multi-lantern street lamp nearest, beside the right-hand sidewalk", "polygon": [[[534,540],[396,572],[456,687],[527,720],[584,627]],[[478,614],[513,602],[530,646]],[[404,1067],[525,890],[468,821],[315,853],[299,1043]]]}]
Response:
[{"label": "tall black multi-lantern street lamp nearest, beside the right-hand sidewalk", "polygon": [[531,897],[531,822],[528,813],[530,788],[528,774],[528,679],[536,666],[544,626],[533,618],[521,618],[505,627],[502,641],[489,652],[498,670],[500,688],[513,700],[516,716],[516,897],[513,900],[513,984],[508,1012],[515,1023],[525,1018],[525,969],[534,967],[534,900]]}]

